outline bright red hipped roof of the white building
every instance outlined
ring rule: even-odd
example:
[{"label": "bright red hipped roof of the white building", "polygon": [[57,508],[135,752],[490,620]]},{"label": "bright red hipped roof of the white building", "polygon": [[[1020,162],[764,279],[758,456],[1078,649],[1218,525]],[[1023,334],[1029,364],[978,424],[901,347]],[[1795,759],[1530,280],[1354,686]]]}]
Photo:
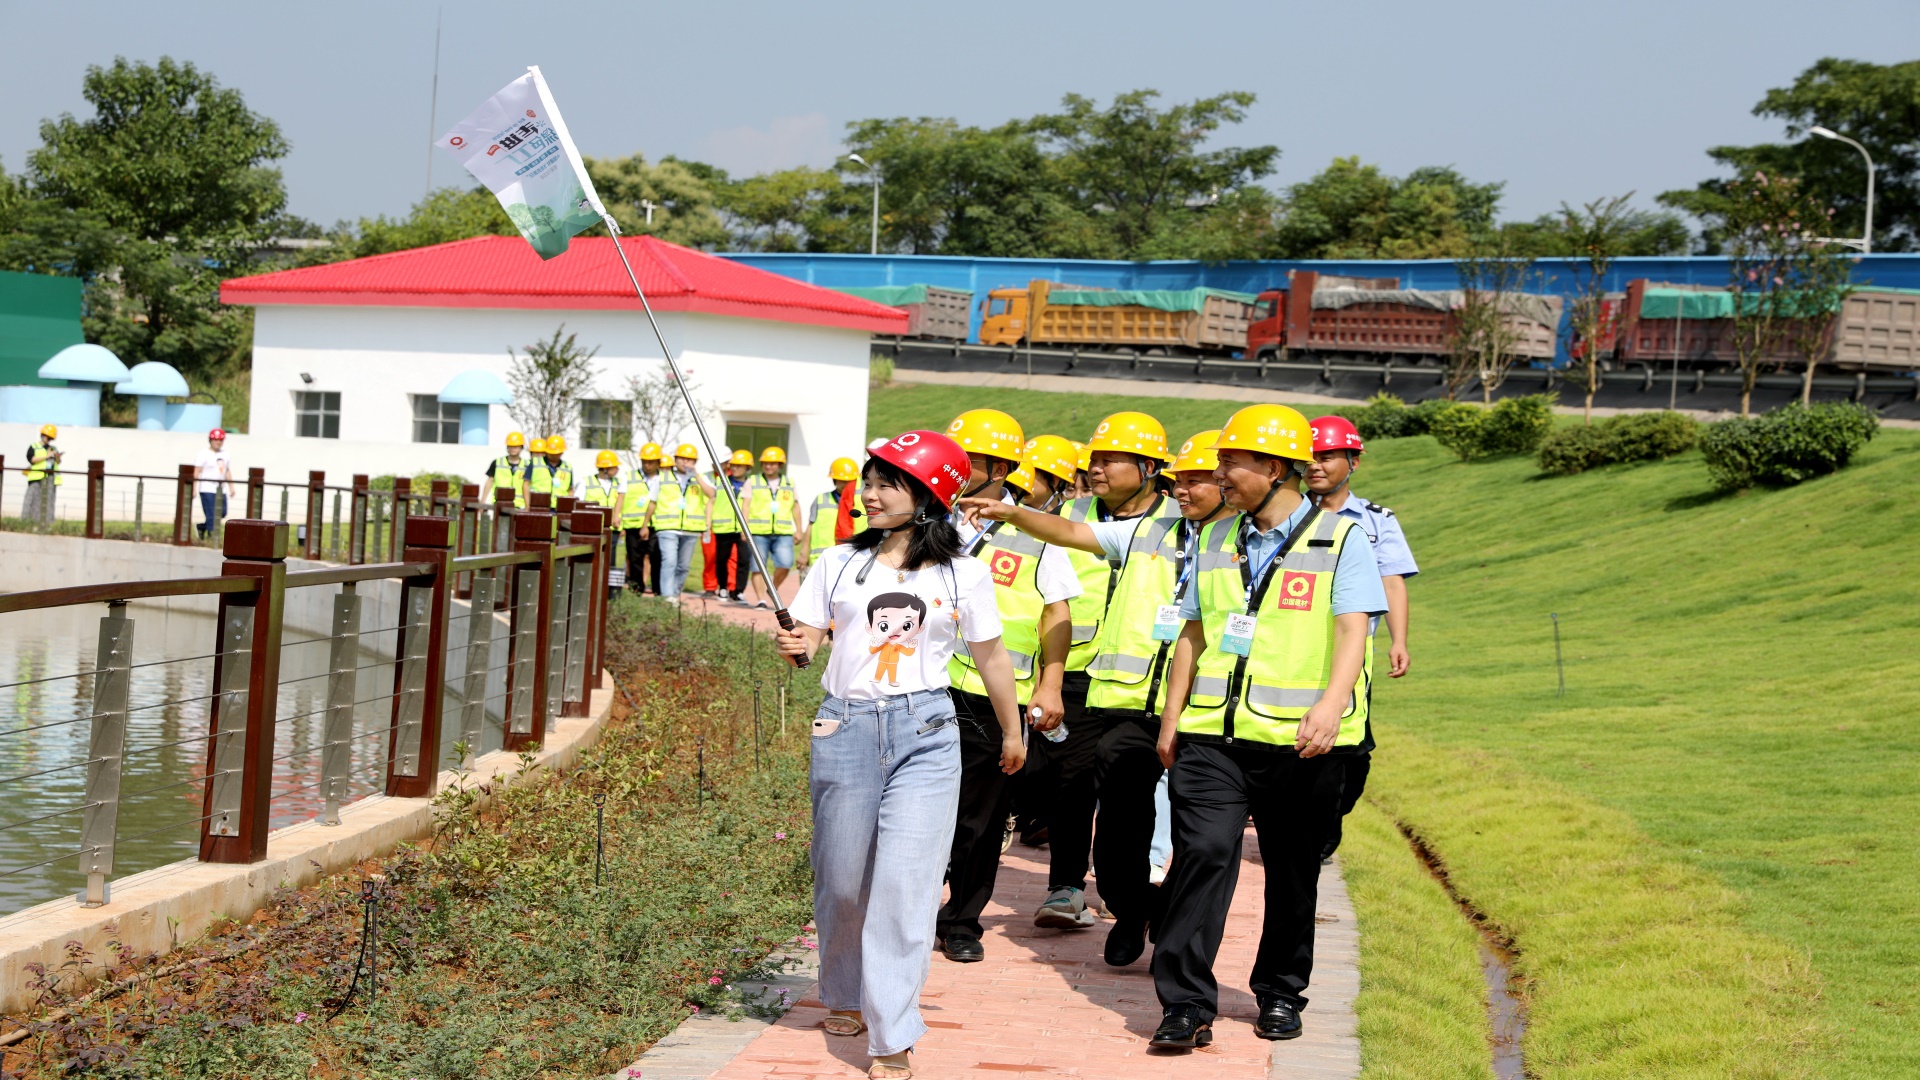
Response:
[{"label": "bright red hipped roof of the white building", "polygon": [[[895,307],[653,236],[622,236],[620,244],[655,311],[906,332],[906,313]],[[639,309],[611,236],[574,238],[564,256],[545,261],[518,236],[474,236],[323,267],[236,277],[221,284],[221,302]]]}]

